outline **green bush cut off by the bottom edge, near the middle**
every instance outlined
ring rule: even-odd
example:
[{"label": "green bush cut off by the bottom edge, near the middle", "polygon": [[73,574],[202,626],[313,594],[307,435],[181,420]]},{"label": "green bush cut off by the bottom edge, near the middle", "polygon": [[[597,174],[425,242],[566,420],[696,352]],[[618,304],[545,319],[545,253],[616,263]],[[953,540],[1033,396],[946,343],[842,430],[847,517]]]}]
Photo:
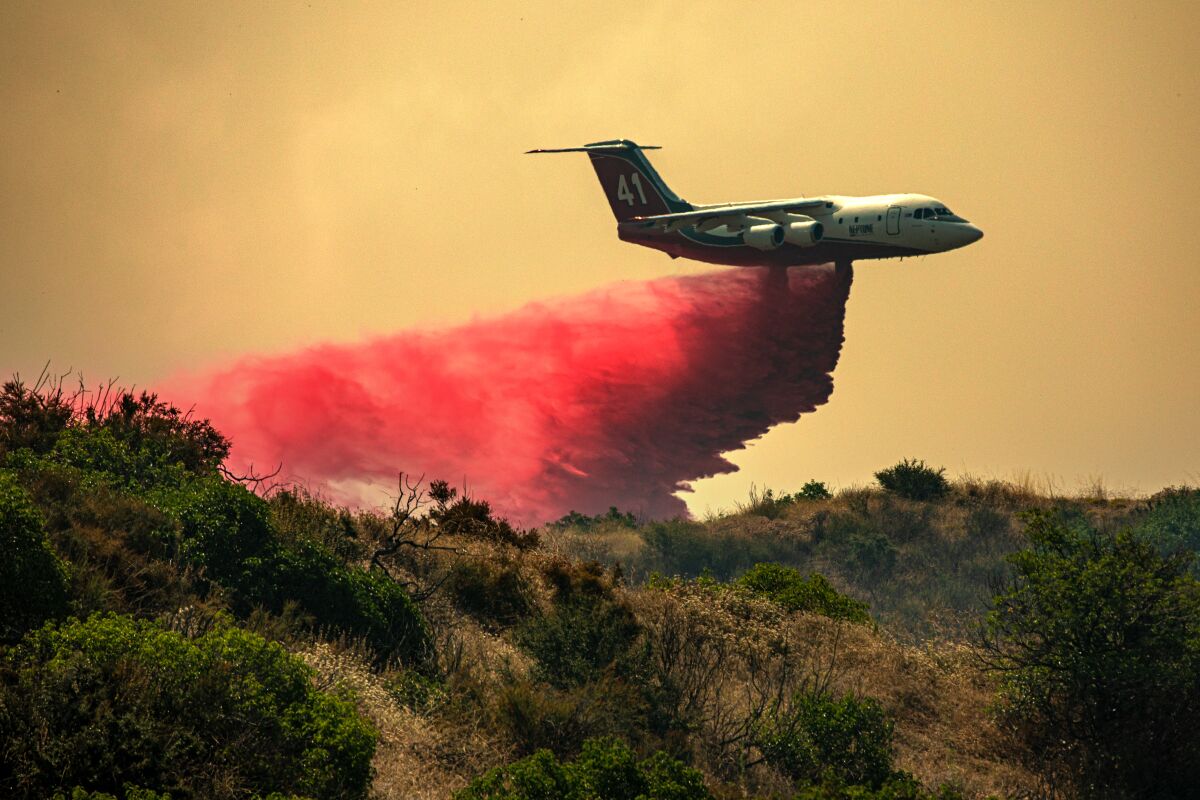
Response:
[{"label": "green bush cut off by the bottom edge, near the middle", "polygon": [[703,777],[665,752],[638,760],[618,739],[593,739],[571,763],[547,750],[498,766],[456,800],[704,800]]}]

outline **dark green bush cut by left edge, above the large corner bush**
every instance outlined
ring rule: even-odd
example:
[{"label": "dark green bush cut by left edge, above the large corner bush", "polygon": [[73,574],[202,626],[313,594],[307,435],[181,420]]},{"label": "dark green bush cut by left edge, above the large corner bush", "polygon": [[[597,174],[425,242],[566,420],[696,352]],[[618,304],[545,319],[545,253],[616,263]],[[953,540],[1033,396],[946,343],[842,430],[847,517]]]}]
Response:
[{"label": "dark green bush cut by left edge, above the large corner bush", "polygon": [[0,470],[0,640],[19,639],[66,606],[66,567],[42,530],[42,515]]}]

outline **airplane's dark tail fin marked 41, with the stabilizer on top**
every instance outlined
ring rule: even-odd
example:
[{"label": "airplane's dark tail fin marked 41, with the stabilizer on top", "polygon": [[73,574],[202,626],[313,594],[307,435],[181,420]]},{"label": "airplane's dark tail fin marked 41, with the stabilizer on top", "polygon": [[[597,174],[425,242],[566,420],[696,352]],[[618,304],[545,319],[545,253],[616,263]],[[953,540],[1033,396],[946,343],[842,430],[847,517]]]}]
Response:
[{"label": "airplane's dark tail fin marked 41, with the stabilizer on top", "polygon": [[592,161],[600,187],[617,222],[655,213],[691,211],[692,206],[672,192],[646,157],[644,150],[659,150],[653,145],[638,145],[629,139],[594,142],[582,148],[558,148],[529,150],[528,152],[586,152]]}]

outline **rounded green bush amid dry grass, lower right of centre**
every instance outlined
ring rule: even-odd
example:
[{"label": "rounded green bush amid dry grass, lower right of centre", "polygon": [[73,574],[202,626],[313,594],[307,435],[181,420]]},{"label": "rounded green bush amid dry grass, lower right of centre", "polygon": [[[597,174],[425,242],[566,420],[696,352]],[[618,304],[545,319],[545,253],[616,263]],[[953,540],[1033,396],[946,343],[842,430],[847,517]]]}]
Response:
[{"label": "rounded green bush amid dry grass, lower right of centre", "polygon": [[755,730],[767,763],[799,784],[835,780],[877,789],[894,777],[893,723],[870,698],[797,693]]}]

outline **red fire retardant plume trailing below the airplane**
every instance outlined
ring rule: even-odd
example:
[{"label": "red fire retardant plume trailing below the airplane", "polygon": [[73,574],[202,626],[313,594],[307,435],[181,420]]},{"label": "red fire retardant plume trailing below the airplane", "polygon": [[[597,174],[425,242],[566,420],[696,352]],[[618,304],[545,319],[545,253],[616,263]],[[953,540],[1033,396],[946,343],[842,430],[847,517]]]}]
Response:
[{"label": "red fire retardant plume trailing below the airplane", "polygon": [[618,283],[242,357],[162,393],[233,440],[235,470],[282,463],[341,501],[377,501],[403,470],[466,481],[527,525],[610,506],[673,517],[688,481],[737,469],[722,453],[829,398],[850,283],[832,266]]}]

